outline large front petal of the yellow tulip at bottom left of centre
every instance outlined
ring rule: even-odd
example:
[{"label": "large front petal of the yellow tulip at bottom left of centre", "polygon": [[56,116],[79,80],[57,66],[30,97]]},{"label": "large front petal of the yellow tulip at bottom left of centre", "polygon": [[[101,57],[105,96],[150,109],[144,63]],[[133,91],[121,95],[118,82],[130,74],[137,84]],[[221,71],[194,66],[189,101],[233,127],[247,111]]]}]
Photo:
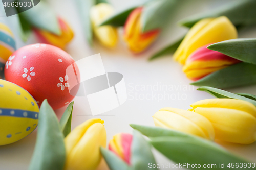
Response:
[{"label": "large front petal of the yellow tulip at bottom left of centre", "polygon": [[[70,134],[72,133],[73,131]],[[67,143],[66,140],[65,143]],[[104,125],[94,123],[87,129],[72,151],[67,154],[66,169],[95,169],[101,160],[100,146],[105,148],[105,145],[106,130]]]}]

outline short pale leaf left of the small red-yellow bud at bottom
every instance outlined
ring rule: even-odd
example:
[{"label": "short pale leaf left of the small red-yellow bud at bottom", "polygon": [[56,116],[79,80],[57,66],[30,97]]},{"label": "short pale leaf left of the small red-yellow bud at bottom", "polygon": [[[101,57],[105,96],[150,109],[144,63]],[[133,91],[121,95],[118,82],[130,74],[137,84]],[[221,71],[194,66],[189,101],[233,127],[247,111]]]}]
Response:
[{"label": "short pale leaf left of the small red-yellow bud at bottom", "polygon": [[100,152],[110,170],[128,170],[129,166],[112,151],[100,147]]}]

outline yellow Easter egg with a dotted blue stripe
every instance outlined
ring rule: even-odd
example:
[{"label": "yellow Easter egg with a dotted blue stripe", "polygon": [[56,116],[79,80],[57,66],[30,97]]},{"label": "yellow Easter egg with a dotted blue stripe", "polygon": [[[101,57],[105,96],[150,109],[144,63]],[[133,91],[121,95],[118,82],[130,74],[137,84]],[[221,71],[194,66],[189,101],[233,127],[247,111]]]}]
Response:
[{"label": "yellow Easter egg with a dotted blue stripe", "polygon": [[16,142],[33,132],[38,114],[39,107],[31,94],[0,80],[0,145]]}]

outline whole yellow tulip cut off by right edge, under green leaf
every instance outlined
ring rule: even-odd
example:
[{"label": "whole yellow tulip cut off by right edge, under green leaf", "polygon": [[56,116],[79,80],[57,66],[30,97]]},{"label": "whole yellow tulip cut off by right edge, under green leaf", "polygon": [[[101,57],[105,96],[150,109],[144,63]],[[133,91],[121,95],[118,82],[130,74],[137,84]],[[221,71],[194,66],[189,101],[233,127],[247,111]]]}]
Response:
[{"label": "whole yellow tulip cut off by right edge, under green leaf", "polygon": [[249,144],[256,140],[256,107],[237,99],[206,99],[190,105],[214,126],[216,139]]}]

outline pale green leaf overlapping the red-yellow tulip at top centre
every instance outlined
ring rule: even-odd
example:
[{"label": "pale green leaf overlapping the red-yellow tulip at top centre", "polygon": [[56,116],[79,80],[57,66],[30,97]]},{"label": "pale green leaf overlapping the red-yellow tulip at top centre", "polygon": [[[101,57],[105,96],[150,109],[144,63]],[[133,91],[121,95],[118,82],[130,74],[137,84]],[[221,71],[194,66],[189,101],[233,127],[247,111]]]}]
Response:
[{"label": "pale green leaf overlapping the red-yellow tulip at top centre", "polygon": [[176,8],[177,2],[177,0],[158,0],[146,3],[141,15],[141,31],[162,29],[173,14],[172,11]]}]

